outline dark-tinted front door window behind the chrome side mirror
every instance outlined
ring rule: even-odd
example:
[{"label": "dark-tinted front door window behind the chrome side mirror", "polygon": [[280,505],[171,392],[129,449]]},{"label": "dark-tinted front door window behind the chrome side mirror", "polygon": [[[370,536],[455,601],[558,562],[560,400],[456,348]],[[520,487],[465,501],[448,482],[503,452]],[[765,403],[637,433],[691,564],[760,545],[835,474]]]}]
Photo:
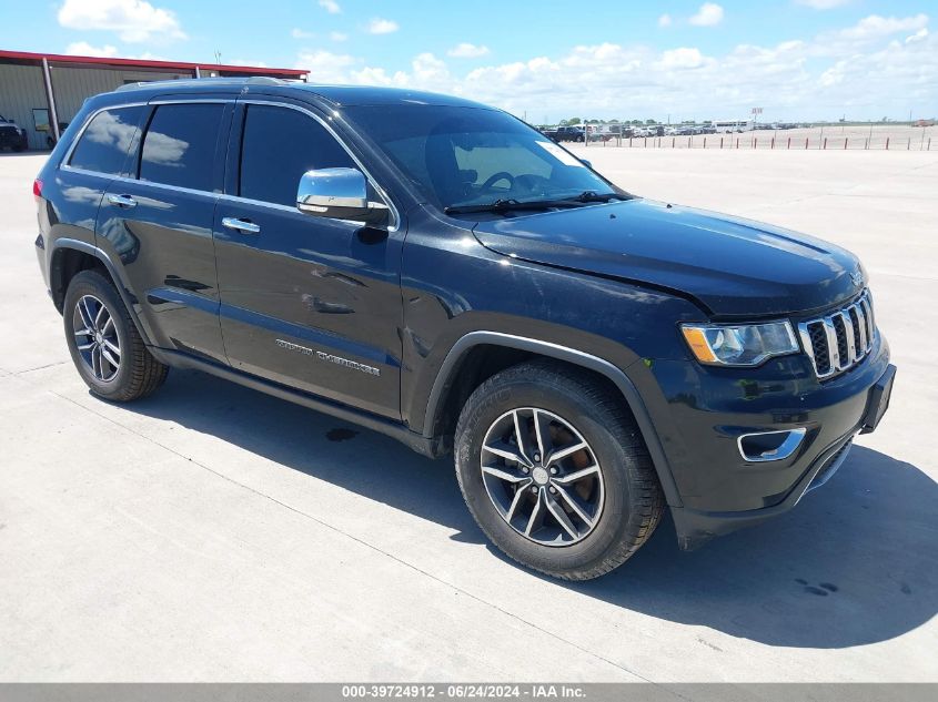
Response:
[{"label": "dark-tinted front door window behind the chrome side mirror", "polygon": [[311,116],[288,108],[248,105],[239,179],[242,197],[292,207],[303,173],[337,167],[356,165]]}]

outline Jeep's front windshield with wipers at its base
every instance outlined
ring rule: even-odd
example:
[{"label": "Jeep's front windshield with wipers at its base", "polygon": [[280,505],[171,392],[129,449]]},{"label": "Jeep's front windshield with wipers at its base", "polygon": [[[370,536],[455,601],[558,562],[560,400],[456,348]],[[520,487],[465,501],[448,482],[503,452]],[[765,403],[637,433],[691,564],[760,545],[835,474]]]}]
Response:
[{"label": "Jeep's front windshield with wipers at its base", "polygon": [[349,118],[441,210],[621,194],[524,122],[484,108],[350,106]]}]

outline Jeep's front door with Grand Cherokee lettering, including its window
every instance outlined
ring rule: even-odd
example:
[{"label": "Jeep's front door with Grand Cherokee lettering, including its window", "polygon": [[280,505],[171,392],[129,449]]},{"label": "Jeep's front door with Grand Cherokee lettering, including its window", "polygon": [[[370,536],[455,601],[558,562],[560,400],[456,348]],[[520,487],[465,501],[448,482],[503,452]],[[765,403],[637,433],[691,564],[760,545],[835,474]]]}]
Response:
[{"label": "Jeep's front door with Grand Cherokee lettering, including its window", "polygon": [[221,324],[241,370],[400,418],[401,240],[296,210],[309,170],[361,166],[297,105],[239,102],[214,235]]}]

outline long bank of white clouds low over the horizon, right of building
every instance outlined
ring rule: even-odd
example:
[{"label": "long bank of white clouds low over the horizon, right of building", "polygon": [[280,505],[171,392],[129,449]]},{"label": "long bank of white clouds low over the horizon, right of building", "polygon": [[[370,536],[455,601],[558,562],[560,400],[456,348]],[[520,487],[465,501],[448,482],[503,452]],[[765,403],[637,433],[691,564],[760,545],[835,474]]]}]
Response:
[{"label": "long bank of white clouds low over the horizon, right of building", "polygon": [[928,32],[926,19],[858,22],[720,53],[606,42],[463,70],[456,68],[462,62],[430,53],[390,69],[351,51],[316,51],[301,55],[297,68],[315,81],[465,95],[515,114],[527,111],[538,121],[572,114],[716,119],[746,115],[753,105],[764,106],[767,120],[837,119],[845,112],[880,119],[908,115],[909,104],[925,113],[938,105],[938,35]]}]

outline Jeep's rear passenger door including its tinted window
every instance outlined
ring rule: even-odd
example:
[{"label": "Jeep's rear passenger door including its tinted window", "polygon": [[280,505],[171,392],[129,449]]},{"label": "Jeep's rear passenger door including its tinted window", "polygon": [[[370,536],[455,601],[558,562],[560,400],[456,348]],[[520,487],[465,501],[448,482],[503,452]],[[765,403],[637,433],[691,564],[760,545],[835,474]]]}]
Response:
[{"label": "Jeep's rear passenger door including its tinted window", "polygon": [[131,177],[102,200],[99,245],[120,258],[160,346],[226,363],[212,218],[233,101],[150,110]]}]

